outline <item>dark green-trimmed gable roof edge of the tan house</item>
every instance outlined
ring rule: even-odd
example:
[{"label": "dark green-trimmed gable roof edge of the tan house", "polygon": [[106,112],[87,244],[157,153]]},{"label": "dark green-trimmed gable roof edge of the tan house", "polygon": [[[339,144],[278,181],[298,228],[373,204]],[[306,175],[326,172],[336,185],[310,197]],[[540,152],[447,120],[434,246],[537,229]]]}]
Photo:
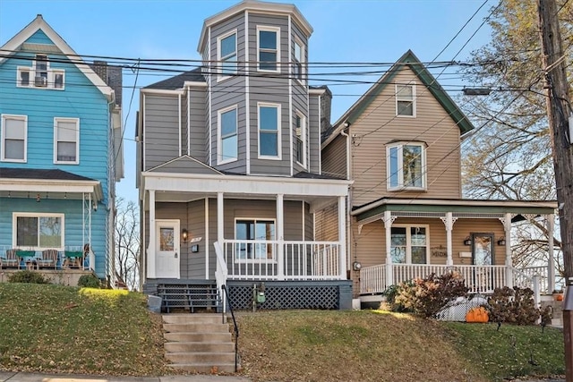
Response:
[{"label": "dark green-trimmed gable roof edge of the tan house", "polygon": [[423,86],[432,93],[432,96],[440,103],[440,105],[448,112],[449,116],[458,125],[461,134],[469,132],[474,129],[474,125],[469,122],[466,115],[459,109],[458,105],[451,99],[448,93],[440,86],[440,83],[432,75],[431,72],[425,68],[420,62],[418,57],[414,55],[412,50],[408,50],[402,55],[398,61],[392,65],[388,72],[381,76],[380,80],[376,81],[368,91],[366,91],[361,98],[359,98],[353,106],[351,106],[344,115],[342,115],[336,123],[333,124],[333,129],[325,137],[322,147],[329,144],[343,129],[345,124],[355,123],[355,121],[363,114],[363,111],[372,104],[372,101],[381,94],[382,90],[392,83],[392,80],[398,72],[405,66],[409,67],[416,77],[422,82]]}]

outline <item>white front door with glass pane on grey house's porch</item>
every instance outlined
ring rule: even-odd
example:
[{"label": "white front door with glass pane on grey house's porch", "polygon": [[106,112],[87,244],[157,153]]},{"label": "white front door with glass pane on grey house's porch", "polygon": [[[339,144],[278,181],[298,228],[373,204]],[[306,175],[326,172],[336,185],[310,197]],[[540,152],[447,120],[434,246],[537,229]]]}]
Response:
[{"label": "white front door with glass pane on grey house's porch", "polygon": [[179,278],[179,220],[156,220],[155,233],[157,278]]}]

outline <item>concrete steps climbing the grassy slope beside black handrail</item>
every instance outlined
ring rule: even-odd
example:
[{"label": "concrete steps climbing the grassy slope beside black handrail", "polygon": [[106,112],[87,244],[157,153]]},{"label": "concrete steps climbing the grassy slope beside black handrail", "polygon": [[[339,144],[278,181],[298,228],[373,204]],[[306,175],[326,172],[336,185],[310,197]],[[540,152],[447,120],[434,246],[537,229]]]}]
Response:
[{"label": "concrete steps climbing the grassy slope beside black handrail", "polygon": [[170,367],[199,373],[235,372],[235,343],[220,314],[164,314],[163,322]]}]

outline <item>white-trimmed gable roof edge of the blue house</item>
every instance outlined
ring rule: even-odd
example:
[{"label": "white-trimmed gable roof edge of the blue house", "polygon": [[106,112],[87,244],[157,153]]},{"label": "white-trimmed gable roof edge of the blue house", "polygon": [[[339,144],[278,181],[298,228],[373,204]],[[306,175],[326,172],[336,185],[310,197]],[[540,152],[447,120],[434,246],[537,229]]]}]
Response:
[{"label": "white-trimmed gable roof edge of the blue house", "polygon": [[13,38],[10,38],[2,47],[0,47],[0,64],[10,56],[16,54],[21,50],[24,43],[38,30],[46,34],[54,45],[65,55],[75,66],[101,91],[108,99],[113,99],[115,96],[114,90],[107,86],[96,72],[94,72],[88,64],[83,64],[81,56],[75,53],[65,41],[57,34],[56,30],[42,18],[41,14],[36,16],[34,21],[30,22],[23,30],[18,32]]}]

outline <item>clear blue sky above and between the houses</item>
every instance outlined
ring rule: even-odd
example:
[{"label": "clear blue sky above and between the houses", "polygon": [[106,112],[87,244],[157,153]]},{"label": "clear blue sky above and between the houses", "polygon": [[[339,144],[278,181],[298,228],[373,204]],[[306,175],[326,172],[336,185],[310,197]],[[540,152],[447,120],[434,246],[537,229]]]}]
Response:
[{"label": "clear blue sky above and between the houses", "polygon": [[[481,28],[480,25],[497,4],[497,0],[487,0],[484,5],[484,0],[284,2],[294,3],[314,29],[309,45],[311,63],[392,63],[408,49],[422,62],[466,61],[472,50],[489,42],[491,31],[487,25]],[[0,0],[0,45],[41,13],[79,55],[197,60],[201,58],[196,49],[203,20],[236,3],[227,0]],[[346,71],[356,69],[346,68]],[[311,76],[312,72],[311,69]],[[438,75],[440,70],[433,72]],[[326,78],[375,81],[378,77],[332,75]],[[137,88],[163,78],[158,73],[140,75],[129,110],[135,76],[133,72],[124,71],[125,178],[118,183],[117,192],[126,199],[137,199],[133,142],[134,115],[139,103]],[[455,75],[454,69],[440,74],[438,81],[451,89],[454,97],[455,89],[471,86]],[[333,122],[369,87],[328,81],[326,84],[333,93]]]}]

